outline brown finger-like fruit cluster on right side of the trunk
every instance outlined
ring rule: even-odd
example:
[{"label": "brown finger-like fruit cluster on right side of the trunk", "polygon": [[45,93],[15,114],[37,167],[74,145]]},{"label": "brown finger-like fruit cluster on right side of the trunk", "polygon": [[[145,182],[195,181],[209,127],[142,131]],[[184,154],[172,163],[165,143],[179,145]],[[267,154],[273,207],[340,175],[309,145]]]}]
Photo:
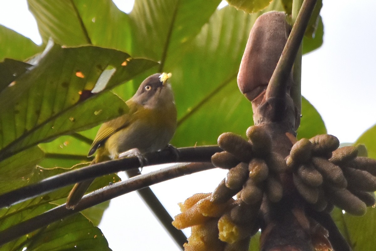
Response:
[{"label": "brown finger-like fruit cluster on right side of the trunk", "polygon": [[340,145],[333,135],[302,138],[286,159],[294,185],[308,205],[331,211],[333,205],[354,215],[375,203],[376,160],[357,157],[354,146]]}]

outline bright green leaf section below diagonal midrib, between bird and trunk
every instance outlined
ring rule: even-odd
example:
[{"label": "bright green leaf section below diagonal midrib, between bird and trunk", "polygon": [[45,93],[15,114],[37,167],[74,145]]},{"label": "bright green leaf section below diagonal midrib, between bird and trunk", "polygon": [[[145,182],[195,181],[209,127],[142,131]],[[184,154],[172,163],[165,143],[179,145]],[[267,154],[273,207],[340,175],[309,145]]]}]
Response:
[{"label": "bright green leaf section below diagonal midrib, between bird and trunk", "polygon": [[223,88],[193,109],[179,120],[174,146],[215,145],[221,133],[230,131],[245,137],[253,125],[252,104],[240,93],[236,78],[224,82]]}]

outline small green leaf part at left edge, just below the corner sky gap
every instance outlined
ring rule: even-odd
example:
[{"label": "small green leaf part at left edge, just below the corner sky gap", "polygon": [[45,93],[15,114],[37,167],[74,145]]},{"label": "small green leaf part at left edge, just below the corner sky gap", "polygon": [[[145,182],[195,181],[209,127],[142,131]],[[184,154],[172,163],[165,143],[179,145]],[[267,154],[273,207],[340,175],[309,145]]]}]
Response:
[{"label": "small green leaf part at left edge, just below the corner sky gap", "polygon": [[23,35],[0,25],[0,61],[4,58],[25,60],[43,48]]}]

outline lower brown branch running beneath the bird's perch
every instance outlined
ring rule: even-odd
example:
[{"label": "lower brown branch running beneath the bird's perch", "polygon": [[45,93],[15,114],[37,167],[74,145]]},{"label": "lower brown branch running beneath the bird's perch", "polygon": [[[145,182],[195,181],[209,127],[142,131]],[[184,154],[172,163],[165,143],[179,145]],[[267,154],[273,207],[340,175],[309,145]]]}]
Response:
[{"label": "lower brown branch running beneath the bird's perch", "polygon": [[94,191],[92,193],[89,193],[88,195],[83,196],[79,204],[74,208],[74,210],[65,208],[65,204],[63,204],[42,214],[39,214],[38,216],[21,222],[17,225],[9,227],[6,230],[1,231],[0,245],[10,242],[11,240],[17,239],[27,233],[31,233],[32,231],[35,231],[41,227],[51,224],[52,222],[59,221],[64,217],[70,216],[86,208],[113,199],[117,196],[133,192],[135,190],[142,189],[144,187],[151,186],[162,181],[170,180],[179,176],[200,172],[212,168],[214,168],[214,166],[209,162],[177,164],[173,167],[166,167],[147,174],[129,178],[126,181],[121,181],[106,186],[103,189]]}]

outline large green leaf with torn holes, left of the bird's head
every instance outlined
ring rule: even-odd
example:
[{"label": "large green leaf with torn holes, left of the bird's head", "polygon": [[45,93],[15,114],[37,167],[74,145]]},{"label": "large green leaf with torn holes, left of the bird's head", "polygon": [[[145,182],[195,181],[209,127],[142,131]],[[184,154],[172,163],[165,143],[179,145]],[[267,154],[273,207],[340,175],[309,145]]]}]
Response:
[{"label": "large green leaf with torn holes, left of the bird's head", "polygon": [[[124,62],[126,62],[124,64]],[[127,111],[110,92],[91,93],[112,68],[105,89],[121,84],[156,63],[94,46],[44,52],[39,63],[0,93],[0,159],[42,141],[95,126]],[[115,71],[114,71],[115,70]],[[92,97],[91,97],[92,96]],[[111,106],[108,104],[111,103]]]}]

